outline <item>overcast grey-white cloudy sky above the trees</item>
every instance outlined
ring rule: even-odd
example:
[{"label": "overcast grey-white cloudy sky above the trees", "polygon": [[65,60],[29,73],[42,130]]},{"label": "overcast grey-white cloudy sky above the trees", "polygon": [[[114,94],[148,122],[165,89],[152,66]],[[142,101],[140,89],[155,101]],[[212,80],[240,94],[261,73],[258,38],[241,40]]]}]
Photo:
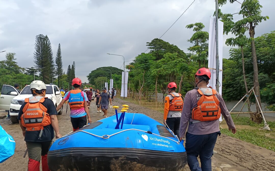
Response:
[{"label": "overcast grey-white cloudy sky above the trees", "polygon": [[[240,0],[242,2],[242,0]],[[102,67],[120,68],[125,61],[144,52],[146,42],[159,38],[186,10],[193,0],[0,0],[0,51],[14,52],[18,65],[34,66],[35,36],[48,35],[53,55],[61,44],[63,67],[76,63],[76,76],[87,81],[90,71]],[[256,36],[275,30],[274,0],[260,0],[262,15],[270,19],[256,28]],[[224,13],[236,13],[240,4],[221,7]],[[185,52],[186,40],[193,31],[187,24],[202,22],[209,30],[209,18],[215,11],[214,0],[196,0],[161,38]],[[224,35],[226,38],[231,35]],[[223,47],[229,58],[230,47]],[[5,53],[0,53],[0,60]],[[127,65],[129,62],[126,62]],[[123,67],[121,67],[123,69]]]}]

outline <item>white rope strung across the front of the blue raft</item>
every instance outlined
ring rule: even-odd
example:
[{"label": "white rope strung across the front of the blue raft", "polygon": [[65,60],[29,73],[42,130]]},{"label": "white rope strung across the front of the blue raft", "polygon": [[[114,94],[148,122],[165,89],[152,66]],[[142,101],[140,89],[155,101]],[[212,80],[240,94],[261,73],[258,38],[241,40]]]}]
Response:
[{"label": "white rope strung across the front of the blue raft", "polygon": [[[134,130],[134,131],[141,131],[141,132],[153,134],[153,135],[156,135],[156,136],[159,136],[159,137],[162,137],[162,138],[167,138],[167,137],[164,137],[164,136],[161,136],[161,135],[158,135],[158,134],[154,134],[154,133],[152,133],[152,132],[150,132],[150,131],[148,132],[148,131],[143,131],[143,130],[140,130],[140,129],[125,129],[125,130],[123,130],[123,131],[119,131],[119,132],[116,132],[116,133],[111,134],[111,135],[102,135],[102,136],[95,135],[95,134],[92,134],[92,133],[90,133],[90,132],[86,132],[86,131],[83,131],[83,130],[78,130],[78,131],[74,131],[73,133],[70,132],[71,134],[68,133],[68,134],[66,134],[66,135],[64,135],[64,136],[62,136],[62,137],[60,137],[60,138],[67,137],[68,135],[75,134],[76,132],[84,132],[84,133],[93,135],[93,136],[98,137],[98,138],[109,139],[110,137],[112,137],[112,136],[114,136],[114,135],[116,135],[116,134],[119,134],[119,133],[122,133],[122,132],[125,132],[125,131],[131,131],[131,130]],[[60,138],[57,138],[57,139],[55,139],[54,141],[56,141],[56,140],[58,140],[58,139],[60,139]],[[174,141],[174,142],[177,143],[177,144],[180,144],[180,141],[175,141],[175,140],[172,140],[171,138],[167,138],[167,139],[169,139],[169,140],[171,140],[171,141]],[[54,142],[54,141],[53,141],[53,142]]]}]

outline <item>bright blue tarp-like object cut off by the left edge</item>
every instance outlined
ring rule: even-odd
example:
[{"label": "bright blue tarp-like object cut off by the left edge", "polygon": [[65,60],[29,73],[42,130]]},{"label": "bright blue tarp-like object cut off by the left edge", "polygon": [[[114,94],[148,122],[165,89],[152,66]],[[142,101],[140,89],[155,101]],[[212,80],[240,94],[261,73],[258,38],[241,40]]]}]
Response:
[{"label": "bright blue tarp-like object cut off by the left edge", "polygon": [[15,141],[0,125],[0,163],[14,154]]}]

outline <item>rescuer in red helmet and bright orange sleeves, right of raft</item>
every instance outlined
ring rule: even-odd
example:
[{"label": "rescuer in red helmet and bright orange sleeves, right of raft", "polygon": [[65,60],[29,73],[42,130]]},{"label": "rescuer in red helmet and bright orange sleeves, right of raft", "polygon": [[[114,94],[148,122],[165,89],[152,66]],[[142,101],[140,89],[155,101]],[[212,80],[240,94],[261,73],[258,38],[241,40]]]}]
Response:
[{"label": "rescuer in red helmet and bright orange sleeves, right of raft", "polygon": [[180,116],[182,114],[182,95],[176,93],[177,84],[171,82],[167,85],[169,94],[165,97],[163,123],[180,137]]}]

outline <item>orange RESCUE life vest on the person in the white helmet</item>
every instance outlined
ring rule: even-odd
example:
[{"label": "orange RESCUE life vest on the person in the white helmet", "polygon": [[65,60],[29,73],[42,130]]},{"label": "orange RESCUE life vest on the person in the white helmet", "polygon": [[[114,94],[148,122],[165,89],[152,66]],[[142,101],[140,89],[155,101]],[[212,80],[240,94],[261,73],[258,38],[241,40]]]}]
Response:
[{"label": "orange RESCUE life vest on the person in the white helmet", "polygon": [[40,137],[44,126],[51,124],[50,115],[47,113],[48,109],[42,105],[45,98],[47,97],[32,96],[25,98],[26,105],[21,115],[21,123],[26,127],[26,131],[40,131]]}]

